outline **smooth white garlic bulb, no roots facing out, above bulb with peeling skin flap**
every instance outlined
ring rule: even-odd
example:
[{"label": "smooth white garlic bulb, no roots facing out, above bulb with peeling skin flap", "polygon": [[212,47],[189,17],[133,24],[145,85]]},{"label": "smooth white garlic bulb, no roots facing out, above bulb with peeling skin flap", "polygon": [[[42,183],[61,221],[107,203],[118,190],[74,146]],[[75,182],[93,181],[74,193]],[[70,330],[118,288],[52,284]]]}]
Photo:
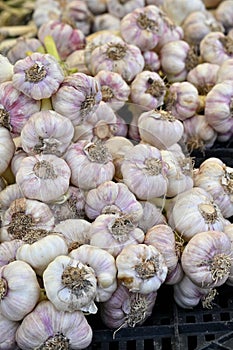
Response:
[{"label": "smooth white garlic bulb, no roots facing out, above bulb with peeling skin flap", "polygon": [[[65,239],[56,232],[32,230],[31,240],[25,241],[16,252],[16,259],[28,263],[37,275],[42,276],[48,264],[57,256],[67,254]],[[38,233],[38,237],[36,237]],[[28,232],[28,235],[30,232]],[[37,238],[34,238],[34,236]]]}]

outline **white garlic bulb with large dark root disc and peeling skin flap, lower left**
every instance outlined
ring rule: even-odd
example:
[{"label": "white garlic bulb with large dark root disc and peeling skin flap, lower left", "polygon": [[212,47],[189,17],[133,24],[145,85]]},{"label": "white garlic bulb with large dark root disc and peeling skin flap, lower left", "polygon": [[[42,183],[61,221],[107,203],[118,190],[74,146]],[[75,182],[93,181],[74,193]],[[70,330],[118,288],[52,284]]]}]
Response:
[{"label": "white garlic bulb with large dark root disc and peeling skin flap, lower left", "polygon": [[46,295],[59,311],[96,313],[94,270],[69,256],[60,255],[43,273]]}]

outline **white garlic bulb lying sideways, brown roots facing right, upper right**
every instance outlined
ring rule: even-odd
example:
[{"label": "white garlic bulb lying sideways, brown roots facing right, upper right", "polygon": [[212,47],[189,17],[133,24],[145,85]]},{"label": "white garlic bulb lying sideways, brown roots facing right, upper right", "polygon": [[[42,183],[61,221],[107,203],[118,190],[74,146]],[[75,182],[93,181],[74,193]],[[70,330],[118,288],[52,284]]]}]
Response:
[{"label": "white garlic bulb lying sideways, brown roots facing right, upper right", "polygon": [[171,83],[186,80],[188,72],[200,63],[195,49],[184,40],[166,43],[159,54],[162,71]]}]

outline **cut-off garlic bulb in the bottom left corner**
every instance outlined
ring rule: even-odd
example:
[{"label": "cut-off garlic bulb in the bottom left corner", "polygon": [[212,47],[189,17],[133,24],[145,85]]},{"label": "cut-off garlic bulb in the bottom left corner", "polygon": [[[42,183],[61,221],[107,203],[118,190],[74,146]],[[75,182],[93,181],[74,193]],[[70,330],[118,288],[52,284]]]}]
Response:
[{"label": "cut-off garlic bulb in the bottom left corner", "polygon": [[20,323],[18,321],[10,321],[7,317],[0,314],[1,350],[17,349],[15,335],[19,325]]}]

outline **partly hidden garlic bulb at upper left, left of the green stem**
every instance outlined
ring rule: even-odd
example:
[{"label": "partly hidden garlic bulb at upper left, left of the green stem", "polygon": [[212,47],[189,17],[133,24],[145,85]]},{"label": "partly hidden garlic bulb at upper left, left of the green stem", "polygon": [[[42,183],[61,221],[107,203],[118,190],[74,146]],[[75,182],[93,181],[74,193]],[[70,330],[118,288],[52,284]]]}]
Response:
[{"label": "partly hidden garlic bulb at upper left, left of the green stem", "polygon": [[12,64],[25,58],[28,52],[35,52],[41,47],[41,42],[36,38],[18,37],[16,43],[7,51],[7,57]]}]

